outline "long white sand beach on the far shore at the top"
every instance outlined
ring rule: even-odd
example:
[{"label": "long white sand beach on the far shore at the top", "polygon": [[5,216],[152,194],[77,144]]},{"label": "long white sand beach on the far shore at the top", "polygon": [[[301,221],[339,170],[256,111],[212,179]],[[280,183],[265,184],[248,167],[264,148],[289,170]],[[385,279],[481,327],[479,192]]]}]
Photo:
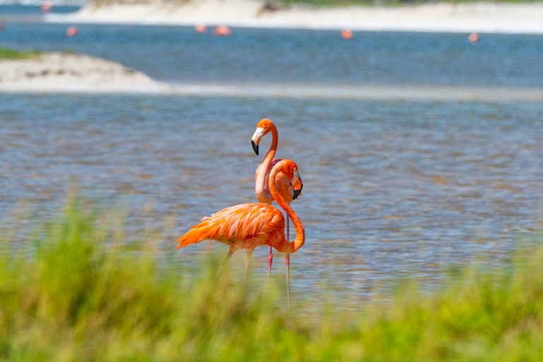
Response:
[{"label": "long white sand beach on the far shore at the top", "polygon": [[455,33],[543,33],[543,4],[425,4],[419,6],[293,7],[267,11],[260,0],[192,0],[187,4],[90,4],[64,23],[230,25],[254,28],[398,30]]}]

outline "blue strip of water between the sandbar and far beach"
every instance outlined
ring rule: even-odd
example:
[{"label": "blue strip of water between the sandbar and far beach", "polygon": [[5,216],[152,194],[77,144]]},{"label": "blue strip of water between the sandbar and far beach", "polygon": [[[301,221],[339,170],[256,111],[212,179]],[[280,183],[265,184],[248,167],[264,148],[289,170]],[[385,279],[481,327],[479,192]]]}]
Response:
[{"label": "blue strip of water between the sandbar and far beach", "polygon": [[[0,6],[1,8],[1,6]],[[8,23],[4,47],[74,50],[122,62],[172,82],[250,81],[385,85],[543,86],[543,37],[234,28],[234,36],[191,27]]]}]

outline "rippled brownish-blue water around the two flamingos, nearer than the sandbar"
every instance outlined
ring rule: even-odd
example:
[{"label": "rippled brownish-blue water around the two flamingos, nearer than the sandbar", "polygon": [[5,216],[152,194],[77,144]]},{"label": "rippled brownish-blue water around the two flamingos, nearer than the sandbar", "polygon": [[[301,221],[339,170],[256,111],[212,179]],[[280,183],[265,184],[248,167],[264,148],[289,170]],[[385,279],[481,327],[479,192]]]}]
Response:
[{"label": "rippled brownish-blue water around the two flamingos, nearer than the sandbar", "polygon": [[[277,156],[295,160],[305,183],[293,202],[307,233],[292,257],[294,293],[325,285],[358,298],[405,275],[431,288],[451,263],[499,260],[532,240],[542,114],[538,103],[0,95],[0,211],[25,201],[49,217],[75,180],[84,196],[127,204],[130,238],[162,229],[173,253],[201,216],[255,202],[262,157],[250,137],[269,117]],[[264,278],[260,249],[252,264]],[[274,274],[284,277],[282,262]]]}]

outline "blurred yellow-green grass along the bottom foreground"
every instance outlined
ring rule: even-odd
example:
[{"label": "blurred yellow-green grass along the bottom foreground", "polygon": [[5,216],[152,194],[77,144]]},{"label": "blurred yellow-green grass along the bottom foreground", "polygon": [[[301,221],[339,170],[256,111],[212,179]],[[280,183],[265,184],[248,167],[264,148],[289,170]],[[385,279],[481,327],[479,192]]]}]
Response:
[{"label": "blurred yellow-green grass along the bottom foreground", "polygon": [[82,200],[8,234],[0,361],[543,361],[543,249],[457,269],[431,295],[405,281],[386,305],[315,294],[287,310],[283,286],[246,295],[238,276],[214,281],[214,260],[189,274]]}]

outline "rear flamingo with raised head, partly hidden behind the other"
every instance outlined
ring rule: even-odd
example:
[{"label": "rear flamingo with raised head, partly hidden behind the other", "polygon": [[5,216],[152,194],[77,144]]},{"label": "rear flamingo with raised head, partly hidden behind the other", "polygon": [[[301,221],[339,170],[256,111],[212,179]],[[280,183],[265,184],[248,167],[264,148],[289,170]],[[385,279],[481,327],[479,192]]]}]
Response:
[{"label": "rear flamingo with raised head, partly hidden behind the other", "polygon": [[[255,173],[255,193],[257,194],[257,199],[259,202],[262,202],[263,204],[269,204],[271,205],[271,202],[274,201],[274,198],[271,197],[271,192],[269,192],[269,173],[271,172],[271,168],[276,165],[281,159],[274,158],[275,153],[277,151],[277,144],[279,142],[279,134],[277,133],[277,127],[275,126],[274,122],[271,122],[271,120],[264,118],[261,119],[260,122],[257,124],[257,130],[255,131],[255,134],[252,135],[251,144],[252,149],[255,150],[255,153],[258,155],[258,145],[260,143],[260,140],[263,136],[271,132],[271,146],[269,146],[269,150],[266,153],[266,156],[264,157],[264,160],[262,160],[262,163],[257,168],[257,172]],[[291,204],[293,198],[293,187],[297,187],[298,185],[292,185],[291,182],[288,180],[281,180],[281,186],[279,187],[279,190],[281,192],[281,196],[285,199],[287,204]],[[289,229],[289,222],[288,218],[286,218],[286,240],[290,238],[290,230]],[[286,255],[285,257],[285,263],[286,268],[288,269],[290,264],[290,255]],[[269,256],[268,256],[268,280],[271,276],[271,263],[274,260],[273,253],[271,252],[271,247],[269,247]]]}]

